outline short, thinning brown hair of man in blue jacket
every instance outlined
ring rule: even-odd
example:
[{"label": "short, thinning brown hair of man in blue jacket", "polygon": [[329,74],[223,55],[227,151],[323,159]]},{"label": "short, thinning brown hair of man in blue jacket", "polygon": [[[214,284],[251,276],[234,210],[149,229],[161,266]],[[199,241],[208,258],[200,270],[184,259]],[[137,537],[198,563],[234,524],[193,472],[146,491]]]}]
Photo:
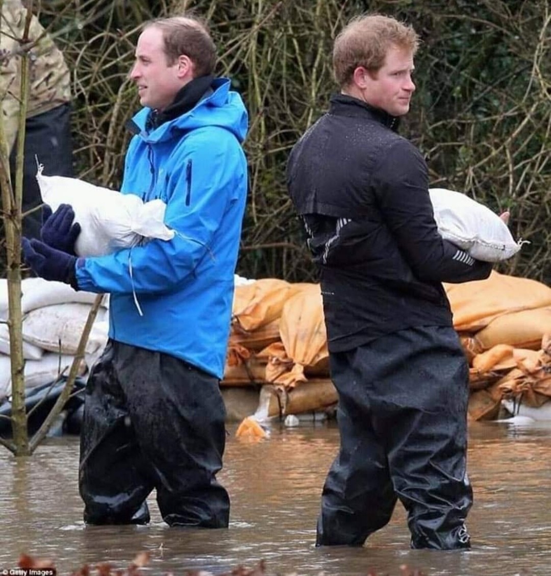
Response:
[{"label": "short, thinning brown hair of man in blue jacket", "polygon": [[216,66],[216,46],[206,21],[197,16],[158,18],[146,23],[162,31],[169,65],[185,54],[195,65],[195,77],[212,74]]}]

